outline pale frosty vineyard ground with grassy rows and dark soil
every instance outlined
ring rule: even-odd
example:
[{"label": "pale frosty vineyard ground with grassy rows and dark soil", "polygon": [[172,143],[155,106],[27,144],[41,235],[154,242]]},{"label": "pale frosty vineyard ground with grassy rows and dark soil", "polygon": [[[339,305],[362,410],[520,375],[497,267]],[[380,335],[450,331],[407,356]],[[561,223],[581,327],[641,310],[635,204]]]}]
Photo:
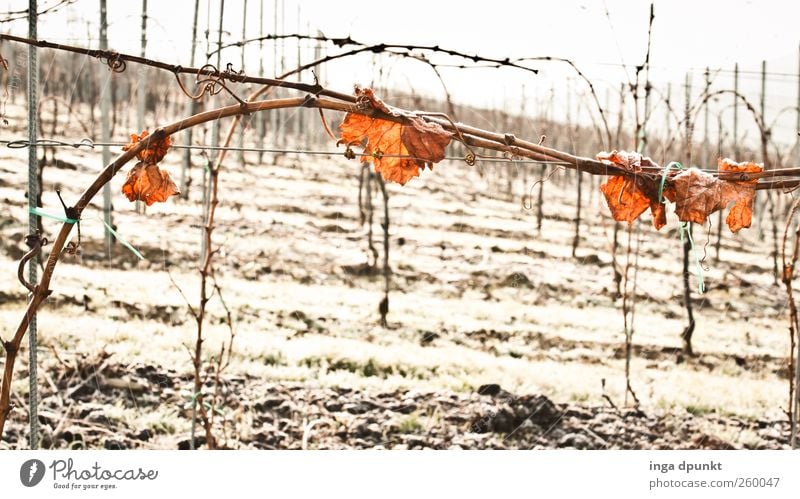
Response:
[{"label": "pale frosty vineyard ground with grassy rows and dark soil", "polygon": [[[176,178],[179,156],[172,151],[164,162]],[[26,157],[24,149],[0,149],[4,339],[25,303],[16,267],[25,249]],[[61,211],[56,187],[70,202],[101,166],[99,152],[60,148],[57,158],[72,166],[45,168],[44,210],[51,213]],[[502,164],[486,164],[480,175],[449,161],[405,187],[390,186],[392,292],[389,327],[382,328],[382,276],[363,267],[369,253],[359,223],[359,164],[267,155],[256,165],[254,153],[246,159],[238,164],[232,153],[226,161],[214,232],[222,246],[217,278],[237,332],[223,407],[230,445],[300,447],[304,433],[308,447],[786,444],[787,426],[778,422],[788,396],[786,300],[772,285],[766,222],[738,236],[724,233],[719,262],[712,237],[708,291],[695,305],[695,358],[679,353],[685,319],[678,234],[655,232],[649,219],[642,225],[631,364],[637,412],[631,399],[625,405],[613,224],[596,181],[584,183],[577,258],[574,174],[545,185],[541,232],[535,212],[520,202],[538,165],[528,165],[527,184],[519,177],[511,196]],[[114,179],[115,223],[144,261],[120,245],[107,261],[100,198],[84,213],[83,254],[59,264],[38,319],[48,445],[186,444],[192,367],[185,346],[195,324],[172,280],[197,303],[199,168],[193,178],[188,201],[173,198],[146,214],[120,193],[124,172]],[[376,197],[378,248],[381,220]],[[45,220],[49,235],[57,228]],[[637,234],[634,227],[634,240]],[[624,263],[626,232],[620,240]],[[695,241],[702,255],[705,229],[696,228]],[[227,341],[224,315],[212,299],[209,356]],[[23,357],[4,447],[24,445]],[[476,393],[487,384],[504,392]],[[532,423],[537,400],[557,415]],[[604,424],[611,426],[598,430]],[[663,441],[637,437],[645,428],[660,428]]]}]

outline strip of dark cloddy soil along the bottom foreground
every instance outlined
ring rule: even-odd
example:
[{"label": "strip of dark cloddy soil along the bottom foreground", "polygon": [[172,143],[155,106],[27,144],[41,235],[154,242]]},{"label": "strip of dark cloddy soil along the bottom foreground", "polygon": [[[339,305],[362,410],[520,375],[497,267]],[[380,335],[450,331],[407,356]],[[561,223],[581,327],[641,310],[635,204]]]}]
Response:
[{"label": "strip of dark cloddy soil along the bottom foreground", "polygon": [[[90,368],[90,366],[93,366]],[[54,368],[58,392],[40,408],[42,446],[53,449],[189,449],[188,378],[109,356]],[[88,381],[87,381],[88,380]],[[79,389],[75,389],[80,385]],[[256,378],[225,383],[220,442],[241,449],[785,449],[789,425],[709,414],[648,414],[636,408],[559,404],[499,385],[475,392],[353,390]],[[80,404],[76,404],[79,402]],[[135,423],[171,407],[175,420]],[[13,413],[0,448],[25,447],[27,422]],[[747,438],[743,438],[747,435]],[[196,436],[203,447],[205,438]]]}]

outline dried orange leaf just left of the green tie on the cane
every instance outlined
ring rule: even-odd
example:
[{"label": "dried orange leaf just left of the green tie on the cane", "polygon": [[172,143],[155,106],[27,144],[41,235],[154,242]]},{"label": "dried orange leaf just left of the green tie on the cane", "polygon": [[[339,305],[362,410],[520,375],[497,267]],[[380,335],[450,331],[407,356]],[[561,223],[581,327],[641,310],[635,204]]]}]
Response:
[{"label": "dried orange leaf just left of the green tie on the cane", "polygon": [[[643,166],[658,166],[650,158],[628,151],[602,152],[597,155],[597,159],[617,165],[634,174],[641,173]],[[667,224],[667,214],[664,204],[658,201],[658,188],[658,182],[652,177],[639,175],[612,175],[600,185],[600,191],[606,198],[614,220],[632,223],[650,208],[653,225],[656,229],[661,229]],[[672,189],[665,187],[663,197],[672,199]]]}]

